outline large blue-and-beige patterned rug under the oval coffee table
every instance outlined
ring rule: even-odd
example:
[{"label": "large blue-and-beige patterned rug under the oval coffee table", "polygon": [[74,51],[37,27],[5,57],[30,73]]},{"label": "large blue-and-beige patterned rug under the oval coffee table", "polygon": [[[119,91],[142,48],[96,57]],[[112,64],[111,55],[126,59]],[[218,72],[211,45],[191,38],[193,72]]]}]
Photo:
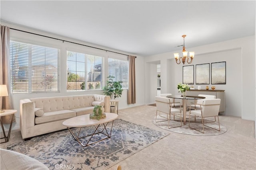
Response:
[{"label": "large blue-and-beige patterned rug under the oval coffee table", "polygon": [[[109,130],[111,124],[107,127]],[[73,130],[78,131],[78,129]],[[92,131],[94,128],[84,127],[81,133]],[[102,170],[114,166],[168,134],[116,119],[111,138],[87,147],[82,147],[75,141],[68,130],[62,130],[10,145],[7,149],[35,158],[50,170]],[[88,139],[85,139],[85,142],[86,140]]]}]

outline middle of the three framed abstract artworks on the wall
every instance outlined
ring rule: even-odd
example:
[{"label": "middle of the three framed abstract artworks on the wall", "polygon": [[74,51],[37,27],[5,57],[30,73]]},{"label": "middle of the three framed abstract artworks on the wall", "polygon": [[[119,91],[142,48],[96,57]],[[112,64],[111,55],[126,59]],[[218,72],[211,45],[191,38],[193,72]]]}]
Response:
[{"label": "middle of the three framed abstract artworks on the wall", "polygon": [[210,63],[196,64],[196,84],[210,84]]}]

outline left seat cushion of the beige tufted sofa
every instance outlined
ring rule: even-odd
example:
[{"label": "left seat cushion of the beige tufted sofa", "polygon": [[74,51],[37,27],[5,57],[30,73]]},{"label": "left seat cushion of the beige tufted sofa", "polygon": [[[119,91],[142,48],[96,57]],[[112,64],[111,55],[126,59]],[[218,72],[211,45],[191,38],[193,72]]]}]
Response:
[{"label": "left seat cushion of the beige tufted sofa", "polygon": [[35,118],[35,124],[42,124],[51,121],[58,121],[62,119],[69,119],[71,117],[76,117],[76,112],[72,110],[60,110],[46,112],[44,115]]}]

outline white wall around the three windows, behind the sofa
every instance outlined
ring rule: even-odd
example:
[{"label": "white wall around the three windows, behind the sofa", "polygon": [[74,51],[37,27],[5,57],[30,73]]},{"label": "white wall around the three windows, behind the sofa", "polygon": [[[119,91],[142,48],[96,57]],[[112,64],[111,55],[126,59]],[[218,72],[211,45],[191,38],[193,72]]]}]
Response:
[{"label": "white wall around the three windows, behind the sofa", "polygon": [[[117,51],[117,50],[113,50],[113,49],[108,49],[106,47],[100,47],[97,45],[93,45],[90,43],[86,43],[86,42],[81,42],[81,41],[77,41],[75,39],[70,39],[67,37],[61,37],[58,35],[54,35],[51,33],[46,33],[46,32],[42,32],[42,31],[38,31],[35,29],[30,29],[27,27],[22,27],[20,25],[14,25],[11,23],[4,23],[1,22],[1,25],[7,25],[11,28],[15,28],[15,29],[20,29],[23,31],[28,31],[28,32],[32,32],[32,33],[37,33],[40,35],[46,35],[49,37],[54,37],[54,38],[58,38],[58,39],[64,39],[66,41],[71,41],[71,42],[75,42],[75,43],[80,43],[80,44],[84,44],[84,45],[89,45],[92,47],[97,47],[97,48],[101,48],[101,49],[106,49],[109,51],[115,51],[118,53],[123,53],[123,54],[127,54],[127,55],[133,55],[130,53],[126,53],[123,51]],[[13,102],[13,109],[17,110],[16,113],[16,123],[13,124],[13,129],[18,129],[19,128],[19,117],[20,117],[20,100],[24,99],[24,98],[37,98],[37,97],[48,97],[48,96],[70,96],[70,95],[80,95],[80,94],[103,94],[102,90],[88,90],[88,91],[83,91],[83,92],[67,92],[66,91],[66,50],[67,49],[71,49],[71,50],[78,50],[80,52],[86,52],[86,53],[90,53],[93,55],[99,55],[104,57],[104,61],[105,61],[105,67],[104,67],[104,73],[105,73],[105,82],[106,82],[106,77],[108,76],[108,57],[111,58],[116,58],[116,59],[127,59],[127,56],[125,55],[120,55],[120,54],[116,54],[116,53],[111,53],[111,52],[106,52],[103,50],[98,50],[98,49],[94,49],[91,47],[85,47],[82,45],[76,45],[73,43],[67,43],[67,42],[62,42],[59,40],[55,40],[55,39],[50,39],[47,37],[42,37],[42,36],[38,36],[38,35],[33,35],[30,33],[24,33],[21,31],[15,31],[13,29],[10,29],[10,39],[11,40],[21,40],[23,42],[27,42],[27,43],[35,43],[38,45],[44,45],[44,46],[51,46],[51,47],[56,47],[58,49],[60,49],[60,92],[59,93],[30,93],[30,94],[12,94],[12,102]],[[124,89],[123,93],[122,93],[122,97],[118,98],[118,100],[120,100],[119,102],[119,109],[123,109],[123,108],[127,108],[127,107],[134,107],[134,106],[140,106],[145,104],[145,100],[144,100],[144,84],[145,84],[145,77],[144,77],[144,57],[141,56],[136,56],[136,62],[135,62],[135,66],[136,66],[136,104],[127,104],[127,89]],[[8,127],[8,125],[7,125]]]}]

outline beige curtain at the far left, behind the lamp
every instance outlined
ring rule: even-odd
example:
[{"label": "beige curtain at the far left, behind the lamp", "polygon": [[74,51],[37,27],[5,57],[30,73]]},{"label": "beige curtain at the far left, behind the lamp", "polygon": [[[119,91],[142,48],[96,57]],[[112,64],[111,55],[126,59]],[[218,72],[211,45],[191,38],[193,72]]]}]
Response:
[{"label": "beige curtain at the far left, behind the lamp", "polygon": [[[3,109],[12,109],[12,99],[10,93],[10,28],[1,25],[1,42],[0,42],[0,84],[6,84],[8,95],[0,97]],[[11,122],[12,115],[2,117],[2,122],[8,124]],[[15,119],[14,119],[15,122]]]}]

